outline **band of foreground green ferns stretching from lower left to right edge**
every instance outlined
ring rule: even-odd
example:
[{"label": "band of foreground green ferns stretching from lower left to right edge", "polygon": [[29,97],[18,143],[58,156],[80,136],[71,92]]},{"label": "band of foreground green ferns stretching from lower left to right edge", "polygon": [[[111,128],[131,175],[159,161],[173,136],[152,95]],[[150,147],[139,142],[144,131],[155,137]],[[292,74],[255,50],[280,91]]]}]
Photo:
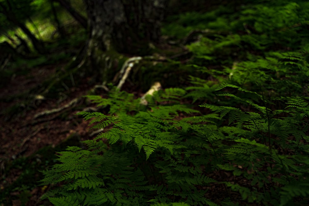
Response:
[{"label": "band of foreground green ferns stretching from lower left to right edge", "polygon": [[[205,198],[207,190],[200,187],[221,183],[249,203],[287,205],[295,197],[307,197],[309,167],[305,154],[309,148],[307,126],[303,123],[308,118],[308,103],[290,98],[285,110],[271,110],[260,105],[270,104],[271,99],[266,101],[257,92],[228,83],[216,90],[226,88],[237,89],[239,95],[251,94],[252,99],[231,93],[219,96],[248,104],[252,111],[202,104],[220,115],[201,115],[178,102],[162,104],[186,95],[185,90],[175,88],[155,94],[156,105],[148,108],[124,106],[124,110],[116,111],[111,106],[110,115],[79,112],[91,120],[90,124],[97,123],[94,128],[114,126],[95,140],[84,141],[88,149],[69,147],[60,152],[61,164],[44,171],[42,180],[60,187],[45,196],[55,205],[147,205],[171,201],[218,205]],[[115,90],[111,96],[117,97],[113,104],[136,105],[136,100],[125,92]],[[100,106],[111,104],[99,96],[90,98]],[[128,111],[135,113],[129,115]],[[180,113],[188,117],[176,120]],[[218,120],[225,117],[229,126],[218,127]],[[216,170],[246,181],[219,182],[207,176]],[[297,183],[299,180],[302,182]],[[251,186],[247,187],[247,183]]]}]

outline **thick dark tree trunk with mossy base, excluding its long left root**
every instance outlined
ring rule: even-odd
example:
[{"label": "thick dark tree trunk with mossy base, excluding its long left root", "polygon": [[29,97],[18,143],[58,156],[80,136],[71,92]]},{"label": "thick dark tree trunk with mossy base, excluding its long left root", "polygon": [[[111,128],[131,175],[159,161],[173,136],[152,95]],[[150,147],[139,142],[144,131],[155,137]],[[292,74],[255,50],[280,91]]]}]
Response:
[{"label": "thick dark tree trunk with mossy base, excluding its long left root", "polygon": [[89,40],[87,56],[93,71],[109,81],[119,53],[139,54],[160,37],[168,0],[84,0]]}]

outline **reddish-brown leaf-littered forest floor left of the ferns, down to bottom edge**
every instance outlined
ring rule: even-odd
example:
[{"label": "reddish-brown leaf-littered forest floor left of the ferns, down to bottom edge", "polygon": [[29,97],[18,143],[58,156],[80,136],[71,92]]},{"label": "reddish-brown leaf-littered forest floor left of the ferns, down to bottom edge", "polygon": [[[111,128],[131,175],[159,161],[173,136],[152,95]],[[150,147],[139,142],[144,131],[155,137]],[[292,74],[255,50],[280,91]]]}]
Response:
[{"label": "reddish-brown leaf-littered forest floor left of the ferns, down to bottom edge", "polygon": [[[30,91],[55,74],[56,68],[64,67],[66,63],[31,68],[27,74],[13,75],[9,83],[0,88],[0,191],[10,187],[10,197],[7,198],[12,200],[14,206],[42,204],[39,198],[46,188],[36,187],[40,180],[40,174],[36,174],[39,171],[30,176],[27,172],[36,168],[46,169],[50,159],[55,158],[54,155],[47,157],[47,153],[54,153],[59,148],[95,137],[90,137],[93,131],[89,131],[89,123],[81,116],[74,115],[82,110],[78,110],[82,108],[79,106],[85,105],[85,98],[81,97],[91,89],[86,80],[61,93],[60,98],[32,97],[32,102],[25,101],[29,96],[36,95]],[[79,98],[79,101],[74,107],[38,116],[41,112],[61,108],[75,98]],[[51,152],[45,149],[51,149]],[[28,185],[29,182],[32,186]]]}]

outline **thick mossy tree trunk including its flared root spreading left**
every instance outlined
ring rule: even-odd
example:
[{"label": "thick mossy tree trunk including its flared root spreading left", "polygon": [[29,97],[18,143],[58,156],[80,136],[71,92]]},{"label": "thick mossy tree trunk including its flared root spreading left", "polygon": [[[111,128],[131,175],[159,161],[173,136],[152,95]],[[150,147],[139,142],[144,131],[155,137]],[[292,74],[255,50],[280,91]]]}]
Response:
[{"label": "thick mossy tree trunk including its flared root spreading left", "polygon": [[88,17],[87,43],[65,69],[46,82],[43,94],[48,93],[57,82],[65,81],[64,79],[70,84],[69,76],[75,72],[82,78],[92,77],[90,84],[112,82],[129,57],[145,55],[141,51],[151,50],[150,43],[159,40],[161,21],[169,0],[84,2]]}]

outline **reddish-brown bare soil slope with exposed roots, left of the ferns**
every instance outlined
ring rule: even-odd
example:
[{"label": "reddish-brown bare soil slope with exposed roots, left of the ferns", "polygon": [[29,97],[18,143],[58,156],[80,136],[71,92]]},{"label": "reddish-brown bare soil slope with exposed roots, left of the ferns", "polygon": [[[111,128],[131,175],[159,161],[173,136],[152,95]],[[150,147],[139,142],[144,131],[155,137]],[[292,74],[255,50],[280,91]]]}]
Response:
[{"label": "reddish-brown bare soil slope with exposed roots, left of the ferns", "polygon": [[[15,158],[18,155],[29,156],[38,149],[46,145],[57,145],[65,140],[73,131],[80,132],[81,136],[85,135],[87,123],[72,124],[74,119],[80,117],[74,116],[76,111],[67,111],[69,116],[66,119],[57,117],[58,113],[42,116],[35,119],[35,115],[46,110],[59,108],[72,99],[85,95],[90,88],[88,85],[78,85],[71,88],[66,99],[43,99],[33,100],[31,105],[24,105],[23,101],[32,96],[34,99],[37,94],[28,93],[27,97],[19,98],[19,94],[26,94],[37,85],[40,85],[48,76],[53,75],[55,67],[59,65],[48,65],[43,68],[33,68],[27,75],[16,76],[11,79],[7,86],[0,89],[0,99],[13,97],[7,102],[0,102],[1,108],[1,159]],[[14,98],[16,96],[16,98]],[[37,101],[37,102],[36,102]],[[6,117],[7,110],[14,105],[19,105],[16,110],[18,113],[12,114],[10,118]],[[61,111],[63,112],[63,111]],[[14,112],[13,112],[14,113]],[[73,120],[72,120],[73,119]],[[5,121],[3,121],[5,120]]]}]

